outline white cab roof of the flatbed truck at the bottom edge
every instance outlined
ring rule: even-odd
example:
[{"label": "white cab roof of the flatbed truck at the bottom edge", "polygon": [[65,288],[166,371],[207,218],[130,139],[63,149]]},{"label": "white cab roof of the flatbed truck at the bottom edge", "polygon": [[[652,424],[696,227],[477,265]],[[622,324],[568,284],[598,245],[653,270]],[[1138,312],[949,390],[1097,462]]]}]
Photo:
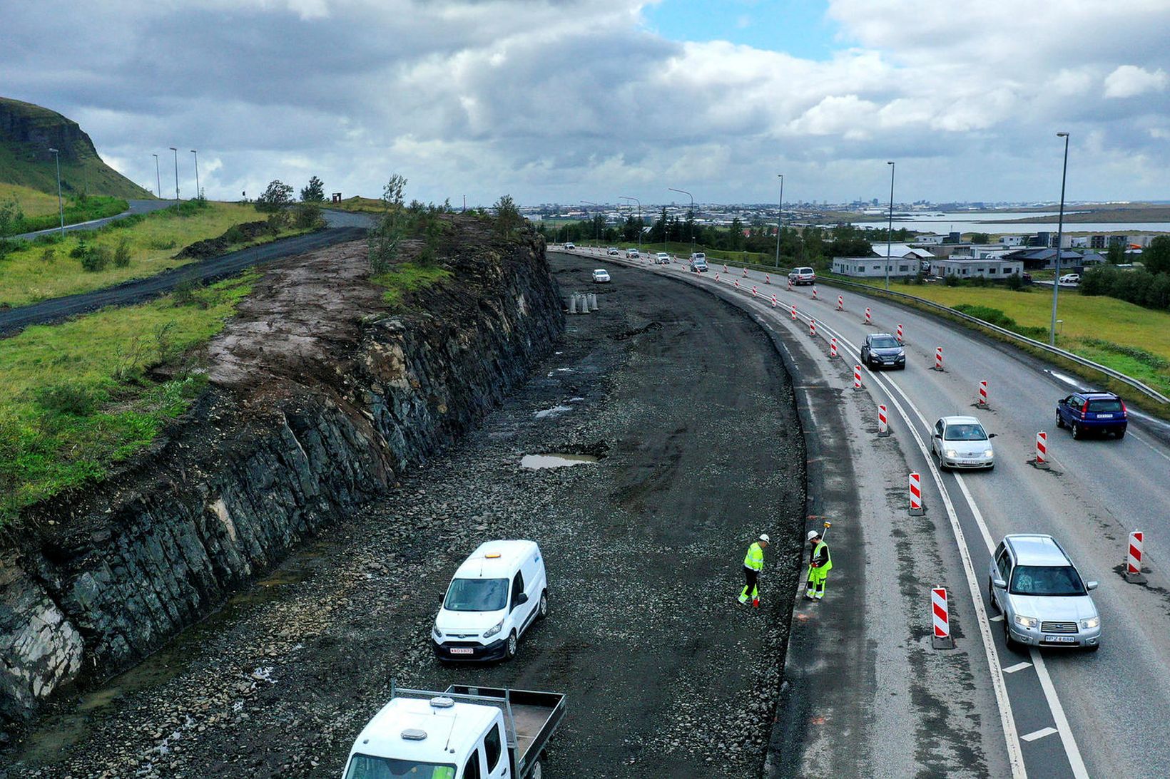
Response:
[{"label": "white cab roof of the flatbed truck at the bottom edge", "polygon": [[394,698],[362,730],[353,752],[462,765],[500,710],[436,697]]}]

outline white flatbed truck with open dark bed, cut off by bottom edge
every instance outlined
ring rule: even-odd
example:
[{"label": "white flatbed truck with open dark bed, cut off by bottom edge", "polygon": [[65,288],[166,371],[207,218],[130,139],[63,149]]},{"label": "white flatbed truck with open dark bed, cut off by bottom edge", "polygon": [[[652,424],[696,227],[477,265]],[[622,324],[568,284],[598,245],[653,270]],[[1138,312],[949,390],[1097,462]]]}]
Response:
[{"label": "white flatbed truck with open dark bed, cut off by bottom edge", "polygon": [[391,687],[362,730],[343,779],[541,779],[541,758],[565,716],[565,696],[453,684],[443,692]]}]

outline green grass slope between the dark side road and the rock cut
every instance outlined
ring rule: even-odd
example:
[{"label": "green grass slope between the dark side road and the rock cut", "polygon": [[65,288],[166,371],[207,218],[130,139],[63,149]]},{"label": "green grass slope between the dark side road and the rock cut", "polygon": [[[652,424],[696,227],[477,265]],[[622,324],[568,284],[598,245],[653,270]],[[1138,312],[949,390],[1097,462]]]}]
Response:
[{"label": "green grass slope between the dark side road and the rock cut", "polygon": [[[186,359],[218,333],[259,276],[0,340],[0,524],[20,509],[102,478],[111,464],[153,441],[205,379]],[[180,365],[152,381],[154,365]]]}]

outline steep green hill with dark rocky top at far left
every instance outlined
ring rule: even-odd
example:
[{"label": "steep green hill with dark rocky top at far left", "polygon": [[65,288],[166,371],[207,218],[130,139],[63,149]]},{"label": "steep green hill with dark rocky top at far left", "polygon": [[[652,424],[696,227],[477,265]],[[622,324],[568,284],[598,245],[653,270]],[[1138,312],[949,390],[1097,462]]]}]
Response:
[{"label": "steep green hill with dark rocky top at far left", "polygon": [[153,194],[102,161],[81,126],[56,111],[0,97],[0,184],[57,194],[53,153],[61,152],[61,191],[66,197],[146,199]]}]

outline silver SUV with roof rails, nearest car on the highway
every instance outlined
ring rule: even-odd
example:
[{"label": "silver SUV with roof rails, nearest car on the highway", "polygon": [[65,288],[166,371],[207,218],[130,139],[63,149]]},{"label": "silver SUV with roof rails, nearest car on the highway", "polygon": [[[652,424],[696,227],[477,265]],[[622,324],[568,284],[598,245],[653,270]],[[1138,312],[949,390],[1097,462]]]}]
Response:
[{"label": "silver SUV with roof rails, nearest car on the highway", "polygon": [[1007,648],[1101,646],[1101,615],[1083,581],[1052,536],[1005,536],[987,571],[991,605],[1004,615]]}]

